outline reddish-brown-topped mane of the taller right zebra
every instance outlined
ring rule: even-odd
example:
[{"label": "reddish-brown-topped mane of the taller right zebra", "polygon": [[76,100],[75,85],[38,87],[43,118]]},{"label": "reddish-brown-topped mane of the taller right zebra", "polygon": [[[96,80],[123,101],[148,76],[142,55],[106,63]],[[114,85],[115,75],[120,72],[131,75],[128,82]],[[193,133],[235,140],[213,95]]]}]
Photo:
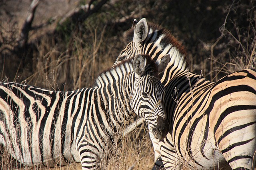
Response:
[{"label": "reddish-brown-topped mane of the taller right zebra", "polygon": [[[169,53],[171,54],[171,61],[179,68],[185,69],[186,66],[186,57],[187,52],[185,47],[182,45],[180,41],[178,41],[168,29],[165,29],[161,25],[148,22],[148,37],[152,36],[154,32],[157,33],[157,37],[155,38],[154,42],[157,42],[161,49],[168,49],[170,50]],[[124,34],[125,41],[130,43],[133,41],[134,37],[134,27],[131,27],[126,33]],[[147,41],[148,38],[146,38]],[[159,42],[160,39],[160,42]],[[175,47],[175,48],[173,48]],[[172,50],[173,49],[173,50]],[[173,57],[175,56],[175,57]]]}]

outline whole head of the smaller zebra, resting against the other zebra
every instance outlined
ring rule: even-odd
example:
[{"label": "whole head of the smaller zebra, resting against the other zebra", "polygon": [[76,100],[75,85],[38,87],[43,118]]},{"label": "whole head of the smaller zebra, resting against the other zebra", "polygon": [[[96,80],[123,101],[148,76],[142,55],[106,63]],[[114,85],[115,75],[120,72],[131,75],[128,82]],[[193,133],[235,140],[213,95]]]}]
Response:
[{"label": "whole head of the smaller zebra, resting against the other zebra", "polygon": [[169,60],[170,55],[166,55],[161,61],[154,63],[149,56],[136,55],[132,61],[135,83],[130,92],[130,105],[136,115],[146,120],[156,139],[164,139],[169,131],[162,107],[165,90],[158,78]]}]

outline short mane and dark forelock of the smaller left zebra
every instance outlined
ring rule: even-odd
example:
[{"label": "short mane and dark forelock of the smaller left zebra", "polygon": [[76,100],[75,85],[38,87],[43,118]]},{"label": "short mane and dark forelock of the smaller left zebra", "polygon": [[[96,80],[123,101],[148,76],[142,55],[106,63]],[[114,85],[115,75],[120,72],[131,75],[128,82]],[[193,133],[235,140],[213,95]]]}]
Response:
[{"label": "short mane and dark forelock of the smaller left zebra", "polygon": [[[158,72],[158,65],[151,59],[151,57],[149,55],[142,55],[142,56],[146,58],[145,74],[148,74],[150,72],[150,74],[152,76],[154,76],[155,78],[160,80],[159,72]],[[113,66],[112,68],[104,70],[103,72],[98,74],[97,78],[94,81],[94,86],[98,85],[98,78],[103,77],[103,76],[107,76],[107,74],[109,72],[111,72],[111,70],[121,70],[122,72],[124,71],[122,68],[125,68],[125,70],[127,70],[128,65],[129,64],[132,65],[133,59],[134,59],[134,57],[132,57],[131,59],[122,61],[120,64],[117,64],[117,65]],[[124,67],[122,67],[122,66],[124,66]],[[121,68],[121,69],[118,69],[118,68]]]}]

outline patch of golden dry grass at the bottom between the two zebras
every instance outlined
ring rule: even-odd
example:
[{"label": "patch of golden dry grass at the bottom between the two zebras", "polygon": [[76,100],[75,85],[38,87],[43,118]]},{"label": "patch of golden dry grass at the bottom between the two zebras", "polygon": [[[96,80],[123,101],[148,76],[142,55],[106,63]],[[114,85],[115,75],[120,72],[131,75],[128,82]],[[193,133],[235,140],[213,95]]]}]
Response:
[{"label": "patch of golden dry grass at the bottom between the two zebras", "polygon": [[[123,137],[121,145],[114,146],[112,158],[108,160],[106,170],[127,170],[134,166],[134,170],[148,170],[154,164],[154,152],[146,131],[142,126]],[[104,163],[103,163],[104,164]],[[103,168],[104,169],[104,168]]]}]

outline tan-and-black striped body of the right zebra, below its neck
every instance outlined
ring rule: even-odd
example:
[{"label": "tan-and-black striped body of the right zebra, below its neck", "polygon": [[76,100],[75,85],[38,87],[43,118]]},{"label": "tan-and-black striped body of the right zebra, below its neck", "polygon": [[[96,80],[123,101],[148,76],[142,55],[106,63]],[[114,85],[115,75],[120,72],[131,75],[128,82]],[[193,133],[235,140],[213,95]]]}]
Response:
[{"label": "tan-and-black striped body of the right zebra, below its neck", "polygon": [[[188,77],[192,89],[189,83],[184,87]],[[192,73],[175,79],[166,94],[176,97],[164,97],[164,108],[171,103],[175,113],[168,117],[170,135],[160,141],[165,168],[229,169],[228,162],[232,169],[250,169],[256,150],[256,70],[234,72],[216,83]]]}]

